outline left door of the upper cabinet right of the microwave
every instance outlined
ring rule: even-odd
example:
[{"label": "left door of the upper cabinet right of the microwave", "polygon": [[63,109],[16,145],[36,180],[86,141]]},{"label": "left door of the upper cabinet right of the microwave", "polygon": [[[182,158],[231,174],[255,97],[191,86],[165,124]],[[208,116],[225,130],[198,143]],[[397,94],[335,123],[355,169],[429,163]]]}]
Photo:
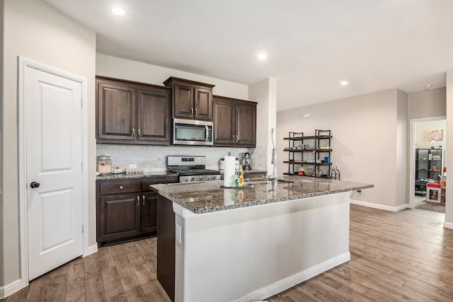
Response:
[{"label": "left door of the upper cabinet right of the microwave", "polygon": [[233,146],[234,132],[234,103],[228,100],[214,98],[214,146]]}]

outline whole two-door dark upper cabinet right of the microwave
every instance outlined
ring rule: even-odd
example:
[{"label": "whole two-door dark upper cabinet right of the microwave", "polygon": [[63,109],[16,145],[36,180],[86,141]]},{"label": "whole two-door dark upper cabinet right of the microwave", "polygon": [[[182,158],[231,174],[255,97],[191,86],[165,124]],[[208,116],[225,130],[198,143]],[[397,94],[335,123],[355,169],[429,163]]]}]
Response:
[{"label": "whole two-door dark upper cabinet right of the microwave", "polygon": [[256,146],[256,104],[214,95],[214,146]]}]

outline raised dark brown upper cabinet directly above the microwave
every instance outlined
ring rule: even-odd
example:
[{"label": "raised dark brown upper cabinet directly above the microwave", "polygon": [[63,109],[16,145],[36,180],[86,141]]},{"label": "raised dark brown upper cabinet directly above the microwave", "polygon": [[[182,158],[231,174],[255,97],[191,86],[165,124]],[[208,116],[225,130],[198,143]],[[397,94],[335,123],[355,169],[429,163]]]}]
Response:
[{"label": "raised dark brown upper cabinet directly above the microwave", "polygon": [[173,91],[172,117],[212,121],[212,88],[214,85],[171,76],[164,85]]}]

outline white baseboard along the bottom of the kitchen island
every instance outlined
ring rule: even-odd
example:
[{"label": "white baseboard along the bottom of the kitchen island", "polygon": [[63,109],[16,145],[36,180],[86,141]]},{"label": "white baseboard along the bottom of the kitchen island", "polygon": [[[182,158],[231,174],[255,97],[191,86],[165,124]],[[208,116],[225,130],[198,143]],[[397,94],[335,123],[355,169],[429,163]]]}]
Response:
[{"label": "white baseboard along the bottom of the kitchen island", "polygon": [[305,269],[304,271],[293,274],[292,276],[289,276],[285,279],[275,281],[273,284],[265,286],[262,289],[258,289],[258,291],[250,293],[247,296],[243,296],[237,301],[245,302],[268,298],[275,294],[281,293],[282,291],[285,291],[286,289],[289,289],[296,284],[299,284],[323,272],[326,272],[328,269],[341,265],[344,262],[348,262],[349,260],[351,260],[351,254],[350,252],[345,252],[344,254],[333,257],[332,259],[324,261],[319,265]]}]

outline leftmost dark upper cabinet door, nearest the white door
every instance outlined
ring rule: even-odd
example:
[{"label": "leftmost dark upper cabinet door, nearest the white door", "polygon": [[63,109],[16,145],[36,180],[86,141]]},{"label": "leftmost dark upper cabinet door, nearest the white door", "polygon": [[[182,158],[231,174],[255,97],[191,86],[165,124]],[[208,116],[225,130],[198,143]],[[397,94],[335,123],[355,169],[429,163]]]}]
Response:
[{"label": "leftmost dark upper cabinet door, nearest the white door", "polygon": [[97,138],[134,140],[135,88],[112,81],[97,83]]}]

